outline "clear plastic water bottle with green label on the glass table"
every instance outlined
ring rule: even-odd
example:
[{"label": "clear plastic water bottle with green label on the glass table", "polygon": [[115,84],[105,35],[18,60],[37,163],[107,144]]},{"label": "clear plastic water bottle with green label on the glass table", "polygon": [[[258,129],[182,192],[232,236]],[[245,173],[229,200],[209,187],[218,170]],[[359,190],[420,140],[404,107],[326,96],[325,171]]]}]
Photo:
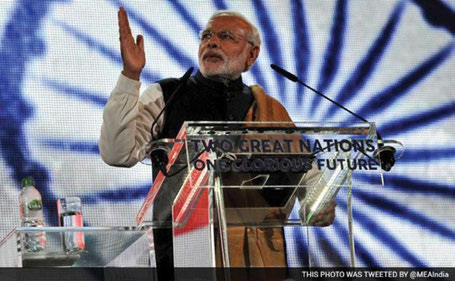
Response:
[{"label": "clear plastic water bottle with green label on the glass table", "polygon": [[[22,179],[19,205],[22,227],[44,227],[43,201],[31,177]],[[25,252],[43,251],[46,248],[46,233],[44,231],[25,233],[23,246]]]}]

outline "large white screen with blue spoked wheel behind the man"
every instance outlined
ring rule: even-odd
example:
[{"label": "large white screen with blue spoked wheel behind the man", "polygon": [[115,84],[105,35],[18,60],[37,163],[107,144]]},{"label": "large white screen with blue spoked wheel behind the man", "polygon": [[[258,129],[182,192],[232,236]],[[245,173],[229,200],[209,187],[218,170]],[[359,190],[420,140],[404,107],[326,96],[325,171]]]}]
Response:
[{"label": "large white screen with blue spoked wheel behind the man", "polygon": [[[133,33],[145,37],[142,90],[197,67],[197,34],[214,11],[245,14],[262,35],[246,84],[262,85],[294,120],[356,121],[279,76],[269,67],[275,63],[406,146],[383,188],[354,192],[358,265],[455,265],[452,0],[0,0],[0,237],[19,225],[20,179],[29,175],[47,225],[57,225],[56,199],[69,195],[82,198],[85,225],[134,224],[151,169],[110,167],[97,145],[122,69],[120,5]],[[338,223],[315,233],[335,253],[347,241]],[[290,265],[306,265],[304,236],[286,230]],[[346,257],[321,255],[316,264],[334,259]]]}]

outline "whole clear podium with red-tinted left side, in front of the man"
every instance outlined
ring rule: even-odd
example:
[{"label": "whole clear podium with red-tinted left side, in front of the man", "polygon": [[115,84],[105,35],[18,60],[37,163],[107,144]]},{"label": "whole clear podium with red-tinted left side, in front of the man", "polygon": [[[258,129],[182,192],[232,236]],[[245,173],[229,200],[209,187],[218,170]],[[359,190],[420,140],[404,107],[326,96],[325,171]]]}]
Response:
[{"label": "whole clear podium with red-tinted left side, in front of the man", "polygon": [[[229,241],[247,237],[243,229],[266,235],[306,228],[310,256],[319,249],[310,233],[318,215],[343,189],[354,264],[351,190],[383,186],[374,123],[185,122],[164,142],[166,171],[155,178],[137,223],[172,227],[176,267],[229,267]],[[161,145],[154,141],[147,153]]]}]

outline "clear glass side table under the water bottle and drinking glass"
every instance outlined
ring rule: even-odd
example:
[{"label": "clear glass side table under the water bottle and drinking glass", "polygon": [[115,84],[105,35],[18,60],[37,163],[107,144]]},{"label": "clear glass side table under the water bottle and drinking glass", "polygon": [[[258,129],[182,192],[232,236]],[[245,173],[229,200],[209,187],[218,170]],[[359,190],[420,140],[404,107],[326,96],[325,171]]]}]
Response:
[{"label": "clear glass side table under the water bottle and drinking glass", "polygon": [[[45,249],[33,252],[37,236]],[[0,267],[150,267],[152,241],[151,229],[135,227],[19,227],[0,242]]]}]

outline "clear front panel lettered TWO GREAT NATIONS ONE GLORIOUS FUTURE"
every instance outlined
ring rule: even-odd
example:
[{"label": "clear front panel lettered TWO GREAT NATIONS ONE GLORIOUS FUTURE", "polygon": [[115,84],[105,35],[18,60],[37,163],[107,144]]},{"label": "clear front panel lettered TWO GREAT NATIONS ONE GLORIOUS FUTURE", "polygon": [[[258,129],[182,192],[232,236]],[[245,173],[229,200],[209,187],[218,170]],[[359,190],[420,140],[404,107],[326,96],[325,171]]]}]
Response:
[{"label": "clear front panel lettered TWO GREAT NATIONS ONE GLORIOUS FUTURE", "polygon": [[[188,172],[214,171],[224,188],[293,187],[298,176],[284,179],[277,174],[314,168],[351,170],[354,186],[382,185],[373,155],[378,148],[373,123],[187,122],[184,126]],[[209,155],[201,159],[205,153]],[[201,187],[193,180],[191,185]],[[312,183],[303,181],[300,186]]]}]

